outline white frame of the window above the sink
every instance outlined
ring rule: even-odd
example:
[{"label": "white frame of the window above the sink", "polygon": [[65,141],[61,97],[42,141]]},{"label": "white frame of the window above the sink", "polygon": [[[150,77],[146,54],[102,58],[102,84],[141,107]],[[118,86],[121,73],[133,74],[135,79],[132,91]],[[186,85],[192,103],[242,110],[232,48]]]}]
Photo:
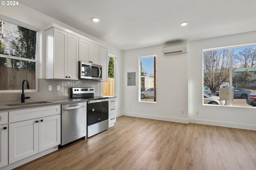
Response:
[{"label": "white frame of the window above the sink", "polygon": [[[34,62],[35,63],[35,89],[24,89],[25,92],[38,92],[38,72],[39,72],[39,62],[42,64],[42,61],[40,61],[40,51],[42,53],[42,50],[40,50],[42,48],[42,40],[40,37],[42,37],[42,29],[38,28],[38,27],[34,27],[32,25],[29,25],[27,23],[23,23],[21,21],[18,20],[14,20],[12,18],[6,17],[6,16],[2,16],[0,14],[0,19],[9,23],[12,23],[14,25],[18,25],[20,27],[24,27],[26,29],[30,29],[32,31],[36,31],[36,52],[35,52],[35,59],[27,59],[27,58],[22,58],[22,57],[14,57],[14,56],[10,56],[10,55],[3,55],[0,54],[0,57],[4,57],[4,58],[8,58],[8,59],[16,59],[16,60],[22,60],[22,61],[30,61],[30,62]],[[39,48],[39,46],[41,48]],[[41,69],[42,70],[42,69]],[[42,71],[41,71],[42,72]],[[18,89],[18,90],[0,90],[0,94],[1,93],[18,93],[18,92],[22,92],[22,89]]]}]

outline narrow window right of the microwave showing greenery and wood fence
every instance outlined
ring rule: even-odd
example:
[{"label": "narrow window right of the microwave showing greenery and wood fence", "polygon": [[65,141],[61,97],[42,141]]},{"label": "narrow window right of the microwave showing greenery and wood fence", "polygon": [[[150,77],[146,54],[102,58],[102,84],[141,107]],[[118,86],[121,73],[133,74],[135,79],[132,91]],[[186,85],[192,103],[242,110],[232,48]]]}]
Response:
[{"label": "narrow window right of the microwave showing greenery and wood fence", "polygon": [[112,56],[108,56],[108,82],[103,82],[103,95],[104,96],[114,96],[114,69],[115,69],[115,59]]}]

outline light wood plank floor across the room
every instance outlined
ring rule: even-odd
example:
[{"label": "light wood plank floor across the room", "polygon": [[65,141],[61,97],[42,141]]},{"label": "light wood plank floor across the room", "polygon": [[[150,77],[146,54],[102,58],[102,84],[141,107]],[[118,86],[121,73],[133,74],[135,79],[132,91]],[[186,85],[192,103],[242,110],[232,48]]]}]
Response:
[{"label": "light wood plank floor across the room", "polygon": [[17,170],[256,170],[256,131],[121,116]]}]

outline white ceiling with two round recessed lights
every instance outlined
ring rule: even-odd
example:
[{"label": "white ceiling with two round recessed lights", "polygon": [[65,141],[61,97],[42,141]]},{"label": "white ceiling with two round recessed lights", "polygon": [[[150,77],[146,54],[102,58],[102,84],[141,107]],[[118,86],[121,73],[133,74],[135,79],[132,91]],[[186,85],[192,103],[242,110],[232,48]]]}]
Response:
[{"label": "white ceiling with two round recessed lights", "polygon": [[256,30],[256,0],[19,2],[122,50]]}]

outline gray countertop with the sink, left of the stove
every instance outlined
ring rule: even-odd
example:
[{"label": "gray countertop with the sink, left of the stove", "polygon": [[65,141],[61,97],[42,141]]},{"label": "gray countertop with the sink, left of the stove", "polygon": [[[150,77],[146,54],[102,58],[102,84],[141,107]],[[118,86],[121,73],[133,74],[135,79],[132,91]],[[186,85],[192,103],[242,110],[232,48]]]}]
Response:
[{"label": "gray countertop with the sink, left of the stove", "polygon": [[[13,109],[26,109],[30,107],[44,107],[44,106],[50,106],[50,105],[62,105],[62,104],[72,104],[72,103],[80,103],[80,102],[87,102],[86,99],[58,99],[58,100],[44,100],[43,102],[49,102],[49,103],[41,103],[41,104],[35,104],[37,102],[42,101],[33,101],[33,102],[25,102],[25,103],[17,103],[15,106],[7,106],[8,104],[0,104],[0,111],[8,111]],[[20,104],[20,105],[19,105]]]}]

